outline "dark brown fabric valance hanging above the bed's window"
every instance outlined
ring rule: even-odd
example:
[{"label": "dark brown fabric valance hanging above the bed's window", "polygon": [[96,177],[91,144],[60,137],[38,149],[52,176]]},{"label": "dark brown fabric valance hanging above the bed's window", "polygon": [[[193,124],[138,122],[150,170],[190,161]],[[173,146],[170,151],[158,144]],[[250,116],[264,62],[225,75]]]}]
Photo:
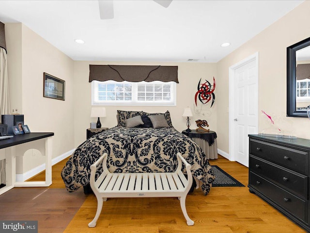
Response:
[{"label": "dark brown fabric valance hanging above the bed's window", "polygon": [[93,80],[117,82],[175,82],[178,81],[177,66],[121,66],[89,65],[89,82]]}]

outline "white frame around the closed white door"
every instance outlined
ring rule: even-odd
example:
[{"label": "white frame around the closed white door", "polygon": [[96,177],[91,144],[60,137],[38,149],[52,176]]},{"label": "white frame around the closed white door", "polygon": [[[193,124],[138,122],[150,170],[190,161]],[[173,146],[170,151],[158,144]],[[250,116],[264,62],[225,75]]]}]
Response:
[{"label": "white frame around the closed white door", "polygon": [[256,133],[258,133],[258,52],[254,53],[253,55],[247,57],[246,59],[234,64],[233,66],[229,67],[229,160],[230,161],[235,161],[235,134],[234,134],[234,121],[233,119],[235,118],[235,70],[238,69],[239,67],[242,67],[249,62],[255,61],[255,66],[256,66],[256,77],[255,77],[255,82],[256,82],[256,103],[257,103],[257,109],[256,109]]}]

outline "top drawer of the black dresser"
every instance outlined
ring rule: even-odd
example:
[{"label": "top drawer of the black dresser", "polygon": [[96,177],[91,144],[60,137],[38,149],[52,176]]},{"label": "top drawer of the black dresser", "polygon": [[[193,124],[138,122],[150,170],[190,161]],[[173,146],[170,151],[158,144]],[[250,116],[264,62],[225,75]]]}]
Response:
[{"label": "top drawer of the black dresser", "polygon": [[309,153],[250,139],[249,153],[304,175],[308,174]]}]

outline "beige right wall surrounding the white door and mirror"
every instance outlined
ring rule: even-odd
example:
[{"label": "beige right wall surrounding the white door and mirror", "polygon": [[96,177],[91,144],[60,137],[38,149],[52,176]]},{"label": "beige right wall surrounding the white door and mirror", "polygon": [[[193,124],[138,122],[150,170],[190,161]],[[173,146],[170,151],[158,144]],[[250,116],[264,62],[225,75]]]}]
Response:
[{"label": "beige right wall surrounding the white door and mirror", "polygon": [[217,63],[217,145],[229,153],[229,67],[259,52],[259,132],[269,127],[264,110],[282,131],[310,139],[310,120],[286,117],[286,48],[310,36],[310,1],[305,1]]}]

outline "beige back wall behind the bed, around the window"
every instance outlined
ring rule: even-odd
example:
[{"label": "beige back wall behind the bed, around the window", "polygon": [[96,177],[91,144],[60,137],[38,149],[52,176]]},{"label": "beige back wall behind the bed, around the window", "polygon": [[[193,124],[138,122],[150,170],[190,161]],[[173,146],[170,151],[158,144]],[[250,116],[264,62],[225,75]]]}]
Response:
[{"label": "beige back wall behind the bed, around the window", "polygon": [[[89,62],[89,61],[76,61],[74,63],[74,77],[75,77],[75,146],[77,147],[86,139],[86,129],[90,127],[90,122],[96,122],[96,118],[91,118],[91,83],[88,82],[89,78],[89,65],[162,65],[162,66],[178,66],[177,84],[177,106],[105,106],[107,109],[107,117],[101,118],[102,127],[113,127],[117,125],[116,113],[117,110],[139,110],[149,113],[164,113],[170,111],[171,121],[178,131],[186,129],[186,119],[182,117],[184,108],[189,106],[192,109],[194,116],[191,119],[191,129],[196,129],[195,120],[205,119],[210,125],[210,130],[217,131],[217,102],[210,109],[210,104],[201,106],[197,104],[197,110],[202,109],[201,115],[195,113],[194,96],[197,91],[197,84],[202,78],[213,83],[213,77],[217,79],[217,66],[215,63],[121,63],[121,62]],[[205,82],[205,81],[204,81]],[[204,83],[203,82],[203,83]],[[215,90],[217,95],[217,89]],[[207,110],[207,111],[205,111]],[[212,112],[211,116],[210,112]],[[202,115],[204,114],[204,116]],[[207,116],[208,114],[208,116]]]}]

